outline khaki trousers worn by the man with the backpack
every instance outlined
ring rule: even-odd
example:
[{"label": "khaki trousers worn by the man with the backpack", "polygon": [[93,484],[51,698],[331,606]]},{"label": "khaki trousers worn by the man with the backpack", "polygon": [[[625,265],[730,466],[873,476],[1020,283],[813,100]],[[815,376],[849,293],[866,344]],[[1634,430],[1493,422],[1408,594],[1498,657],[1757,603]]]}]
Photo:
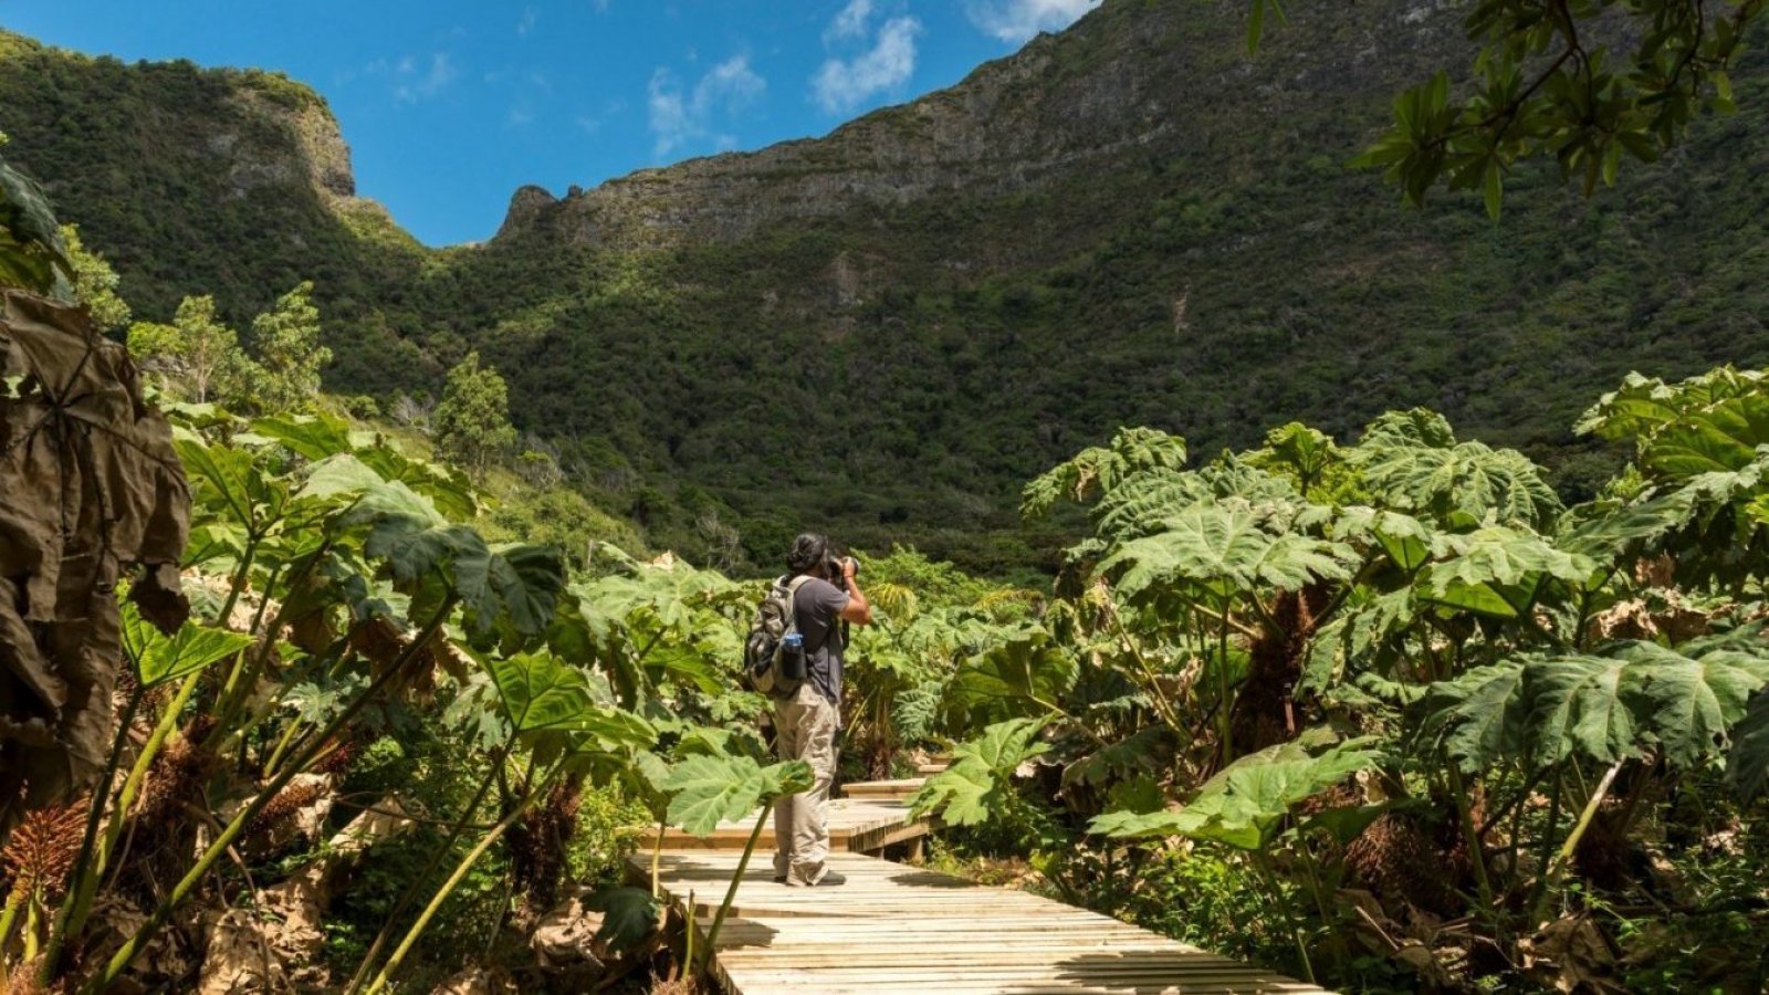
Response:
[{"label": "khaki trousers worn by the man with the backpack", "polygon": [[824,807],[835,783],[839,722],[835,705],[808,680],[794,698],[775,701],[780,760],[803,760],[816,777],[808,791],[775,802],[775,876],[785,876],[789,885],[814,885],[826,871],[830,823]]}]

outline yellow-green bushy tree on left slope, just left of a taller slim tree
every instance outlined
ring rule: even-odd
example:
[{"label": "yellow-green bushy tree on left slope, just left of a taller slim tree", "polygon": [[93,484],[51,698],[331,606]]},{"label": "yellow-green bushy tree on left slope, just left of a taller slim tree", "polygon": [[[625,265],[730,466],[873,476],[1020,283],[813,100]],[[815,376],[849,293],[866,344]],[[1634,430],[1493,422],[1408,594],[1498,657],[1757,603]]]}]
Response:
[{"label": "yellow-green bushy tree on left slope, just left of a taller slim tree", "polygon": [[161,388],[205,404],[237,404],[264,370],[239,347],[239,333],[216,317],[214,297],[184,297],[172,324],[136,322],[129,351]]}]

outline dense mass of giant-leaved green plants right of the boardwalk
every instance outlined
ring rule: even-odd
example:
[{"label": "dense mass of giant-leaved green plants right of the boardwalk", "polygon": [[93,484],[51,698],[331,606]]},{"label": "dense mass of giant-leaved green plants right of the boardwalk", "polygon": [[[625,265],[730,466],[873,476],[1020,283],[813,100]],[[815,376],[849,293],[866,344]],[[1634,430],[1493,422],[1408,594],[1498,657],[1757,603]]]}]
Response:
[{"label": "dense mass of giant-leaved green plants right of the boardwalk", "polygon": [[1635,375],[1578,430],[1633,460],[1576,505],[1424,409],[1081,451],[1024,492],[1091,526],[1051,650],[916,804],[1339,988],[1762,988],[1769,372]]}]

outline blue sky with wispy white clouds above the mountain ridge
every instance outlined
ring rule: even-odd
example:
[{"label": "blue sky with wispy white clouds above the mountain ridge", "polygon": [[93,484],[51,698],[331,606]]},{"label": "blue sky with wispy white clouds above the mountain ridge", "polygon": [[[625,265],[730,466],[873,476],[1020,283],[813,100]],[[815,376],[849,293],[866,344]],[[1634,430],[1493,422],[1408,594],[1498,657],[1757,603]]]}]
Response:
[{"label": "blue sky with wispy white clouds above the mountain ridge", "polygon": [[288,73],[331,103],[357,191],[451,244],[490,237],[525,182],[564,193],[823,135],[1097,2],[4,0],[0,25],[129,62]]}]

